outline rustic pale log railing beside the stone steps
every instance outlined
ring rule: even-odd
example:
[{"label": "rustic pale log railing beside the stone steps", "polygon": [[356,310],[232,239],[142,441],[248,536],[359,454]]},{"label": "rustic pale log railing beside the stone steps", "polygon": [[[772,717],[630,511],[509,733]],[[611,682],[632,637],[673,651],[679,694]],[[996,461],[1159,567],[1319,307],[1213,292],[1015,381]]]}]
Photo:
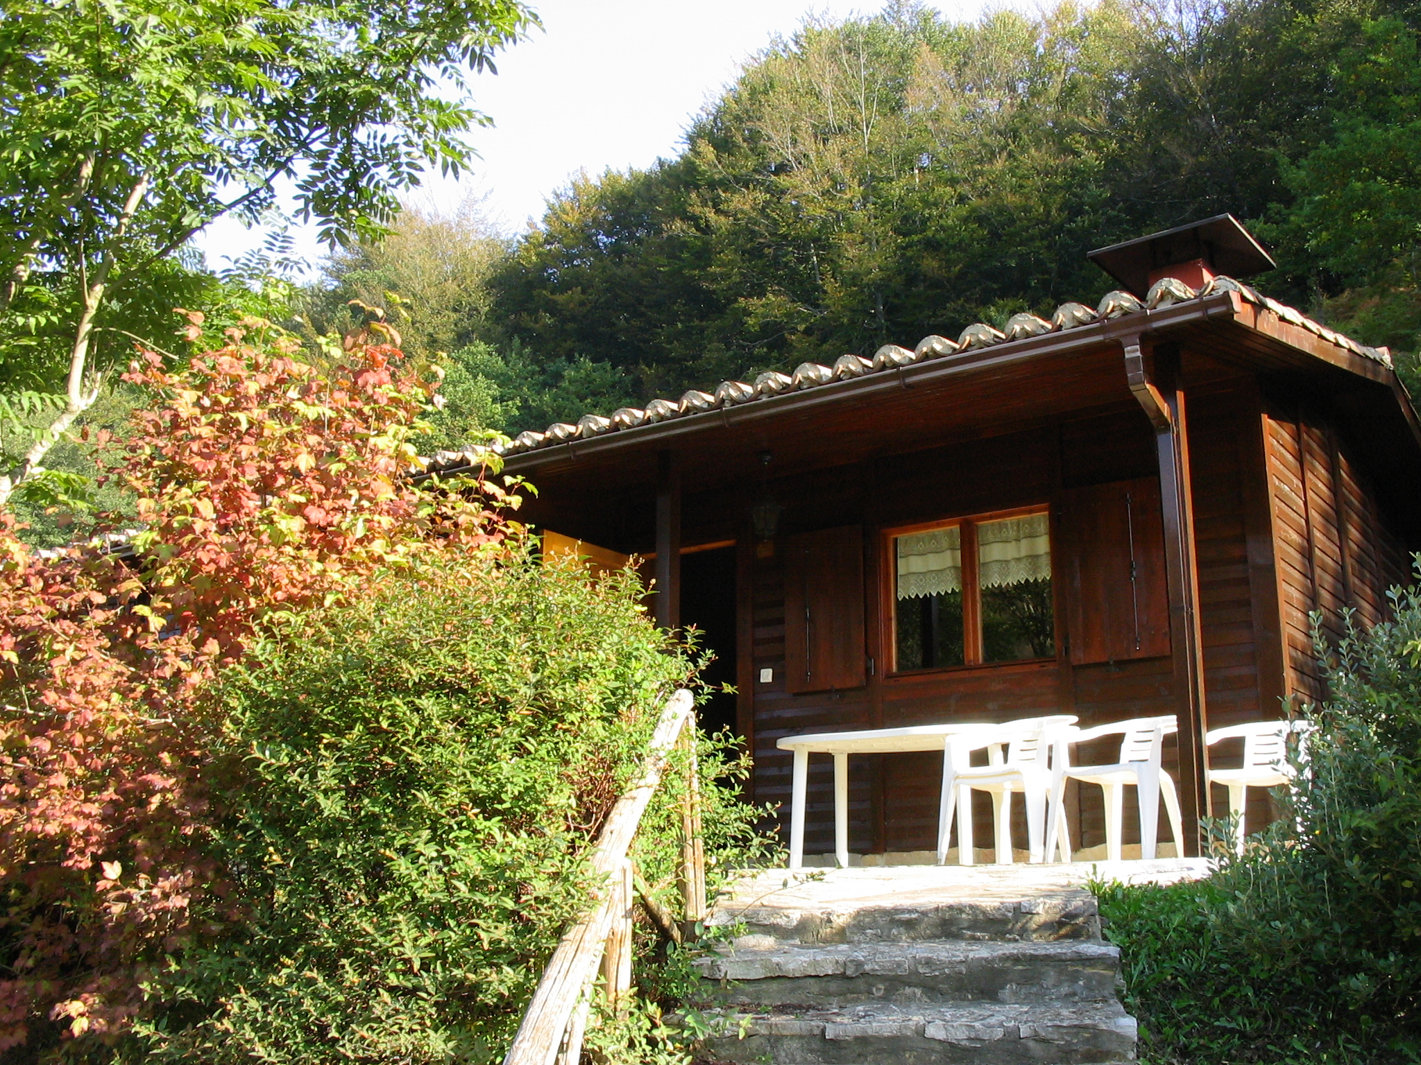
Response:
[{"label": "rustic pale log railing beside the stone steps", "polygon": [[[639,895],[651,920],[668,937],[681,941],[705,916],[705,853],[701,845],[701,802],[695,764],[696,716],[689,692],[676,692],[661,711],[647,746],[641,775],[617,799],[593,851],[591,869],[600,882],[598,905],[567,930],[543,970],[503,1065],[577,1065],[588,994],[603,971],[610,1007],[620,1007],[631,993],[631,937],[634,896]],[[654,897],[632,868],[631,849],[641,816],[661,784],[674,747],[688,750],[686,790],[681,808],[681,892],[685,919],[681,926]]]}]

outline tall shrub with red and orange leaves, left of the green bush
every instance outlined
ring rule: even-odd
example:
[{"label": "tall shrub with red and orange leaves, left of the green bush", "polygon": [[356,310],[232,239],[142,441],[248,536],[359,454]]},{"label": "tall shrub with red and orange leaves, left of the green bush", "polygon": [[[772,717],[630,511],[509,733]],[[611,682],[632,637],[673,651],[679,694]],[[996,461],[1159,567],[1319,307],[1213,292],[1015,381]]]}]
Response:
[{"label": "tall shrub with red and orange leaves, left of the green bush", "polygon": [[0,515],[0,1051],[41,1020],[115,1037],[165,954],[240,917],[203,856],[202,696],[253,626],[431,537],[499,550],[502,488],[406,476],[432,382],[394,348],[350,358],[320,373],[240,335],[180,372],[148,354],[125,379],[159,400],[112,474],[139,498],[128,547],[41,555]]}]

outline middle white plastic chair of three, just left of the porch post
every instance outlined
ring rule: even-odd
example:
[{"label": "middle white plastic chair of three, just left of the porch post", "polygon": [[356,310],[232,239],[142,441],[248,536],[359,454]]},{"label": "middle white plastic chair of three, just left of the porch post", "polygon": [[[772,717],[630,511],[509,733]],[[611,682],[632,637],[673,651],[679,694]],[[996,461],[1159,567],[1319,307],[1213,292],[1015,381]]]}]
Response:
[{"label": "middle white plastic chair of three, just left of the porch post", "polygon": [[[1140,856],[1151,859],[1158,852],[1160,795],[1169,815],[1175,855],[1182,855],[1184,821],[1179,816],[1179,795],[1174,778],[1161,768],[1164,737],[1178,731],[1172,714],[1165,717],[1135,717],[1128,721],[1100,724],[1094,728],[1067,728],[1061,743],[1061,757],[1053,772],[1052,828],[1046,839],[1046,853],[1060,849],[1061,861],[1070,861],[1070,829],[1066,825],[1063,797],[1067,780],[1098,784],[1106,794],[1106,858],[1118,862],[1124,836],[1125,788],[1131,784],[1140,798]],[[1071,765],[1070,744],[1086,743],[1101,736],[1120,736],[1120,758],[1111,765]]]}]

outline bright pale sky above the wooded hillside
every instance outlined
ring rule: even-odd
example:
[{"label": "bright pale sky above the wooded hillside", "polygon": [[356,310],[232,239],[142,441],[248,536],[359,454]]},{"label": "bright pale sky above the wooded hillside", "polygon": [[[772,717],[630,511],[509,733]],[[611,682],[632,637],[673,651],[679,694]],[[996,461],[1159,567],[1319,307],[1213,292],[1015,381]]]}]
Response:
[{"label": "bright pale sky above the wooded hillside", "polygon": [[[975,18],[983,0],[934,4]],[[475,129],[480,158],[458,183],[432,180],[411,200],[453,213],[468,197],[510,236],[541,216],[571,175],[648,166],[675,156],[693,116],[740,64],[809,14],[875,11],[870,0],[533,0],[543,20],[473,81],[473,104],[495,126]],[[220,268],[261,243],[261,230],[219,220],[196,244]],[[320,258],[314,227],[293,229],[298,254]]]}]

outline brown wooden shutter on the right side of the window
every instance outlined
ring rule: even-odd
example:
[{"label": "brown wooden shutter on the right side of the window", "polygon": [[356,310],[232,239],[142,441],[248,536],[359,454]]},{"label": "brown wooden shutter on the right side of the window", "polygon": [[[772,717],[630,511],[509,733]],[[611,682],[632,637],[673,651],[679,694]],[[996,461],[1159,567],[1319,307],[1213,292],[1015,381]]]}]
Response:
[{"label": "brown wooden shutter on the right side of the window", "polygon": [[1070,660],[1123,662],[1169,653],[1160,480],[1076,488],[1061,507],[1061,589]]}]

